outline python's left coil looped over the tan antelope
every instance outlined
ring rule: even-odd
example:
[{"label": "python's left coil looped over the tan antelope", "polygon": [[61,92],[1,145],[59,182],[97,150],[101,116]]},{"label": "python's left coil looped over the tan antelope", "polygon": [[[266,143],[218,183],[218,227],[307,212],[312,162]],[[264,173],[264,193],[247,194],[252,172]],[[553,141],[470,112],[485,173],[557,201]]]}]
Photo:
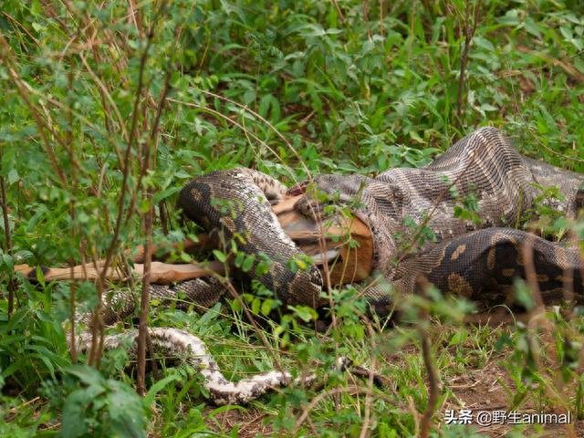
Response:
[{"label": "python's left coil looped over the tan antelope", "polygon": [[[276,201],[285,192],[285,186],[267,175],[235,169],[211,172],[187,183],[180,193],[179,205],[187,217],[212,233],[220,230],[224,242],[234,242],[238,251],[255,257],[248,272],[275,291],[285,304],[317,307],[322,288],[320,272],[314,265],[308,269],[291,268],[305,264],[306,256],[271,210],[269,201]],[[269,266],[258,275],[261,261]]]}]

